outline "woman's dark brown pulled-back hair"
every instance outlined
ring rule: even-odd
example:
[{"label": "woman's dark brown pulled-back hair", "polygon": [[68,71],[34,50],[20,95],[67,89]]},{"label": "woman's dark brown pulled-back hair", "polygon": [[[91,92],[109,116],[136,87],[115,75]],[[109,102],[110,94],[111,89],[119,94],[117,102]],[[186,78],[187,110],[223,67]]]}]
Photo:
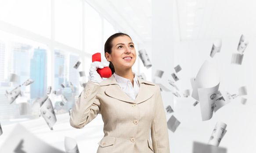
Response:
[{"label": "woman's dark brown pulled-back hair", "polygon": [[[113,44],[112,44],[112,42],[113,42],[113,39],[114,38],[116,38],[116,37],[119,37],[119,36],[128,36],[128,37],[130,37],[129,35],[127,35],[127,34],[124,34],[124,33],[121,33],[121,32],[119,32],[119,33],[115,33],[114,35],[112,35],[112,36],[110,36],[108,39],[107,39],[107,41],[105,42],[105,47],[104,47],[104,51],[105,51],[105,55],[106,55],[106,52],[108,52],[108,54],[111,54],[112,53],[112,46],[113,46]],[[131,38],[131,37],[130,37]],[[106,57],[106,56],[105,56]],[[113,65],[113,63],[111,62],[111,61],[109,61],[109,66],[108,66],[110,69],[111,69],[111,71],[112,71],[112,74],[115,72],[115,67],[114,67],[114,65]]]}]

